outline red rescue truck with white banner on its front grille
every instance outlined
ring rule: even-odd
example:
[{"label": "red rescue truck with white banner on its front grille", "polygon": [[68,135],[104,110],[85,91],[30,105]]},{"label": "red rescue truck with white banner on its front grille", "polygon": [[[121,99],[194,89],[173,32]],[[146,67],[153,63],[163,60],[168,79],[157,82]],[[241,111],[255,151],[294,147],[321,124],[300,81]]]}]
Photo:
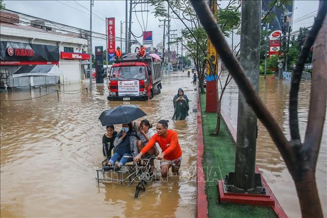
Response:
[{"label": "red rescue truck with white banner on its front grille", "polygon": [[161,62],[147,56],[144,62],[136,57],[124,57],[114,63],[108,75],[108,100],[148,100],[160,94]]}]

